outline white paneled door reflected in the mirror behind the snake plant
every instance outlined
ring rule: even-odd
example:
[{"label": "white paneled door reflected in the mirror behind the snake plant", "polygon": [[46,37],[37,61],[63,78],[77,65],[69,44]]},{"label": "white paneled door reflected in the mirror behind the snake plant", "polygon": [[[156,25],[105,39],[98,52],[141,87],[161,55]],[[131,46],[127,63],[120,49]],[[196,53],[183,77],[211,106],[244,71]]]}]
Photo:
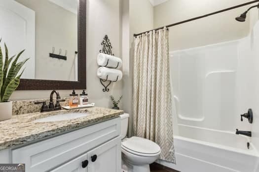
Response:
[{"label": "white paneled door reflected in the mirror behind the snake plant", "polygon": [[25,49],[20,60],[30,59],[22,78],[35,79],[35,11],[15,0],[0,0],[0,38],[10,57]]}]

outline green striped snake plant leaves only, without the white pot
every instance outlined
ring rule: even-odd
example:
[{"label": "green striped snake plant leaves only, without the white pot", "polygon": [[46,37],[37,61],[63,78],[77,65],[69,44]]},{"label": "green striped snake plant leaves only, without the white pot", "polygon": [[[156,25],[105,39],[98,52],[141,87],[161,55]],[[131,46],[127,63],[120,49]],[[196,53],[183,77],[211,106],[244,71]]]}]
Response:
[{"label": "green striped snake plant leaves only, without the white pot", "polygon": [[[2,39],[0,39],[1,42]],[[21,51],[16,57],[8,57],[8,49],[4,43],[5,48],[5,60],[3,62],[3,54],[0,46],[0,102],[7,102],[12,94],[12,92],[19,86],[20,78],[23,71],[19,74],[19,71],[29,59],[25,59],[18,62],[19,57],[25,51]]]}]

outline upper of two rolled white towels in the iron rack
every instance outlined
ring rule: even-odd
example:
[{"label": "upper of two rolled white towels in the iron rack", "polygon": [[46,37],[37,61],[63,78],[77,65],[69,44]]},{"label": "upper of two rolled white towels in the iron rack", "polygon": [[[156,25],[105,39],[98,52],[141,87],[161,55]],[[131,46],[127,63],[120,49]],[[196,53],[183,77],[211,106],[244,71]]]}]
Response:
[{"label": "upper of two rolled white towels in the iron rack", "polygon": [[[108,60],[109,60],[109,62],[108,62]],[[105,66],[107,64],[107,62],[108,62],[108,65]],[[118,65],[117,69],[122,66],[122,60],[120,58],[114,57],[114,56],[111,56],[111,55],[107,55],[107,54],[104,54],[104,53],[98,54],[97,63],[98,63],[99,66],[105,66],[105,67],[111,67],[111,68],[115,68]]]}]

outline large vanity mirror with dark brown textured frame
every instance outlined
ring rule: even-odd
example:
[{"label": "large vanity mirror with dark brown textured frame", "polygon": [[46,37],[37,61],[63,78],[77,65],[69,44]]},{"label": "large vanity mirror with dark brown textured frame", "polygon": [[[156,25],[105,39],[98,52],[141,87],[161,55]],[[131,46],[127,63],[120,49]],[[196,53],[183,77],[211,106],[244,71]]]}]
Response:
[{"label": "large vanity mirror with dark brown textured frame", "polygon": [[86,0],[0,0],[0,23],[1,47],[30,57],[18,90],[86,88]]}]

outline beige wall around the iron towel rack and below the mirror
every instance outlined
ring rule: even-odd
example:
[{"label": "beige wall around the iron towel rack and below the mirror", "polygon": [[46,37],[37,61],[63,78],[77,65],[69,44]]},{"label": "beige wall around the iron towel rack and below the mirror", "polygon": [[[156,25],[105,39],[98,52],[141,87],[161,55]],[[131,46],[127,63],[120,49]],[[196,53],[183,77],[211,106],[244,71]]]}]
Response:
[{"label": "beige wall around the iron towel rack and below the mirror", "polygon": [[[109,96],[119,97],[122,94],[122,82],[110,86],[110,92],[103,92],[103,86],[97,78],[98,65],[96,56],[101,49],[101,42],[105,34],[110,37],[113,53],[121,54],[121,14],[120,0],[87,0],[87,92],[89,101],[96,106],[112,107]],[[72,90],[59,90],[61,97],[67,97]],[[79,93],[79,91],[77,91]],[[81,92],[81,90],[80,90]],[[50,90],[14,91],[11,100],[49,98]]]}]

